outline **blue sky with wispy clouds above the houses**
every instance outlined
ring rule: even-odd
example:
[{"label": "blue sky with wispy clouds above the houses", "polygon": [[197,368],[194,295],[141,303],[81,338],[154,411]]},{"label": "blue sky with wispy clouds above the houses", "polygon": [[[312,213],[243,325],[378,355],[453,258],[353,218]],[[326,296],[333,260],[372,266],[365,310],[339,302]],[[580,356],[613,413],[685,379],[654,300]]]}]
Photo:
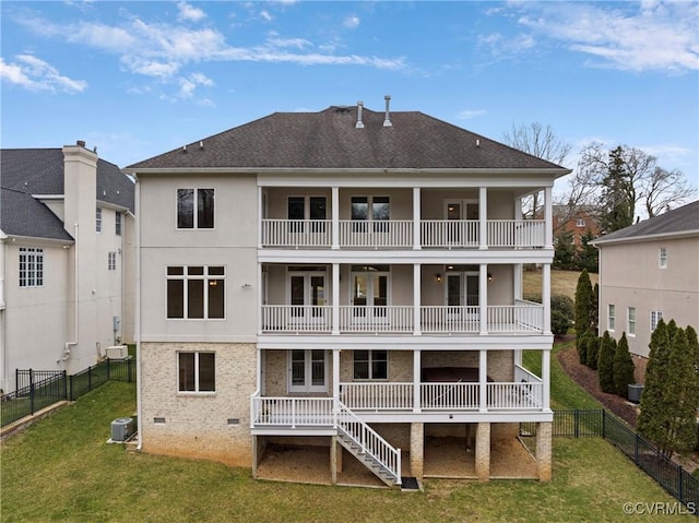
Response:
[{"label": "blue sky with wispy clouds above the houses", "polygon": [[[699,185],[699,3],[0,2],[2,147],[121,167],[274,111],[550,126]],[[571,154],[567,166],[573,168]]]}]

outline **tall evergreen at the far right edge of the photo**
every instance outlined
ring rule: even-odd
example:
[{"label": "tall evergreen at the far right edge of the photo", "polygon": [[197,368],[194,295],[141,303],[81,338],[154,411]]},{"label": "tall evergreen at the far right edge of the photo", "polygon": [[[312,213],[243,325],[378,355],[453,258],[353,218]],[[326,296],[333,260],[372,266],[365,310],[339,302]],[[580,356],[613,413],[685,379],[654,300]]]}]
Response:
[{"label": "tall evergreen at the far right edge of the photo", "polygon": [[697,375],[694,369],[694,349],[684,329],[677,329],[670,350],[665,394],[672,405],[666,454],[694,450],[697,443]]}]

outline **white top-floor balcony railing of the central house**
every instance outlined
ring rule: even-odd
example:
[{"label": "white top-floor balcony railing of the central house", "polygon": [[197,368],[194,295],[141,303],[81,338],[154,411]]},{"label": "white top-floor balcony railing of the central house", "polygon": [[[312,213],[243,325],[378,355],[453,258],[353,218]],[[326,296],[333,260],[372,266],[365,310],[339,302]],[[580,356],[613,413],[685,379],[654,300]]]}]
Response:
[{"label": "white top-floor balcony railing of the central house", "polygon": [[[340,248],[436,249],[537,248],[545,247],[543,219],[488,219],[486,238],[481,238],[477,219],[423,219],[419,246],[414,246],[412,219],[339,221]],[[262,247],[330,248],[333,245],[330,219],[262,219]]]}]

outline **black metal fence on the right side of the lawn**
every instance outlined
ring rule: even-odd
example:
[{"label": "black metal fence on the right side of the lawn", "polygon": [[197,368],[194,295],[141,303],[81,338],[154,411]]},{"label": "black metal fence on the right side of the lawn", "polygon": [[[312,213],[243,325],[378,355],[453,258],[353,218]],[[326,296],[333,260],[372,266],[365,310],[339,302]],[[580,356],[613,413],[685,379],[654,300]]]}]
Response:
[{"label": "black metal fence on the right side of the lawn", "polygon": [[[535,428],[522,424],[520,430],[531,435]],[[699,479],[608,412],[555,411],[553,435],[562,438],[604,438],[677,500],[692,510],[699,510]]]}]

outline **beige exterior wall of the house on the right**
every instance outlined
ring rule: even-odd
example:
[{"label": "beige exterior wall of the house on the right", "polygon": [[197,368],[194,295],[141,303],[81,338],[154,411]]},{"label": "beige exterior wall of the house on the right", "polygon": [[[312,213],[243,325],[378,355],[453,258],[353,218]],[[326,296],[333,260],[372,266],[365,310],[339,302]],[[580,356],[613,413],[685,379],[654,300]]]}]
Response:
[{"label": "beige exterior wall of the house on the right", "polygon": [[[659,250],[667,250],[667,268],[659,268]],[[608,305],[615,306],[612,333],[627,332],[627,310],[636,308],[636,335],[627,338],[629,350],[648,357],[651,311],[685,328],[699,326],[699,238],[655,239],[644,242],[603,245],[600,251],[600,331],[608,330]]]}]

